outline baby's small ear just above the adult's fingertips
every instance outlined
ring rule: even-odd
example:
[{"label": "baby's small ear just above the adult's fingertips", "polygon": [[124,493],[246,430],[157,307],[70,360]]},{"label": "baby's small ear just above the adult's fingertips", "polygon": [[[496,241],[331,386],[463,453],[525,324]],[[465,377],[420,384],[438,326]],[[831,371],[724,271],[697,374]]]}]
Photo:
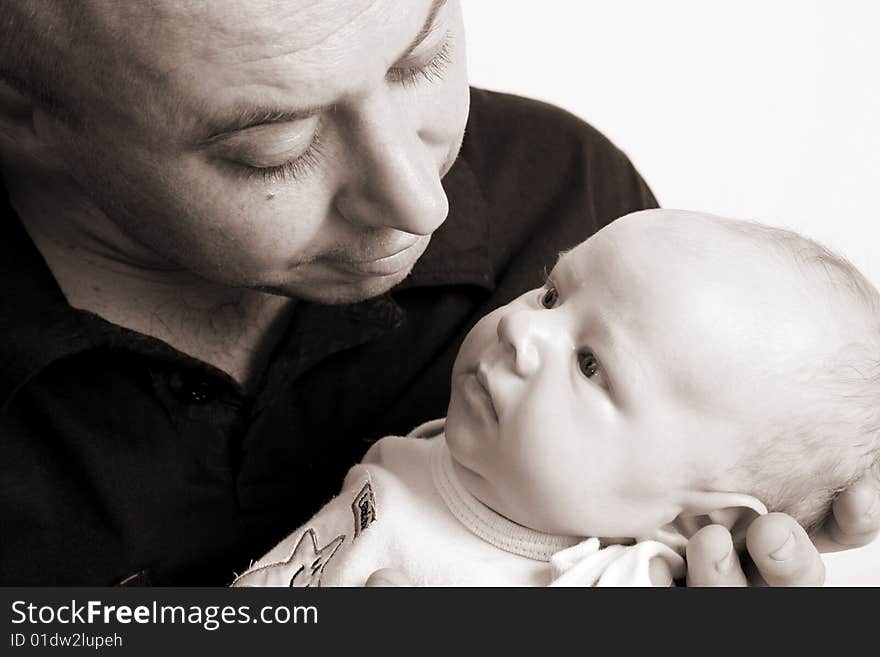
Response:
[{"label": "baby's small ear just above the adult's fingertips", "polygon": [[723,491],[694,491],[688,495],[676,524],[692,536],[706,525],[726,527],[734,543],[745,539],[745,530],[767,507],[751,495]]}]

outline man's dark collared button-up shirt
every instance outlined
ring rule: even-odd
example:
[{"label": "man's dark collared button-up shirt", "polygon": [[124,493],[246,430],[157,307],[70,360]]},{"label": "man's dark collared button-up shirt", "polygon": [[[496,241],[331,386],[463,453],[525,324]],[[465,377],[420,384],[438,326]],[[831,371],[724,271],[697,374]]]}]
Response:
[{"label": "man's dark collared button-up shirt", "polygon": [[253,395],[71,308],[0,189],[0,584],[229,583],[372,441],[445,415],[482,315],[656,205],[579,119],[478,90],[443,184],[449,217],[409,278],[363,303],[299,303]]}]

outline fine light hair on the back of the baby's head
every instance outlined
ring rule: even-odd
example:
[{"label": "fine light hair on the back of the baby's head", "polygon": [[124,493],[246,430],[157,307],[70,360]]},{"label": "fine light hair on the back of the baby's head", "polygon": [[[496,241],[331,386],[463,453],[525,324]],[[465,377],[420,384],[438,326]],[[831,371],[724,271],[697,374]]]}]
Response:
[{"label": "fine light hair on the back of the baby's head", "polygon": [[843,297],[845,307],[865,319],[857,343],[831,345],[826,361],[799,371],[826,393],[827,403],[798,409],[739,464],[753,483],[751,494],[812,534],[838,493],[870,469],[880,475],[880,294],[852,263],[803,235],[747,221],[721,223],[788,259],[807,284],[824,286],[817,304],[828,298],[823,295]]}]

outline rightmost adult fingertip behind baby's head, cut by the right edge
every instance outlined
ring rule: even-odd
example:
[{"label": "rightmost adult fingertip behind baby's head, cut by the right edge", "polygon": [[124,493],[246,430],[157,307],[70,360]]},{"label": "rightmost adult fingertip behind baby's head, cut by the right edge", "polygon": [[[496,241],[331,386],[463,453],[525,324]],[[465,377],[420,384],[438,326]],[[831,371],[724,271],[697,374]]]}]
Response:
[{"label": "rightmost adult fingertip behind baby's head, cut by the right edge", "polygon": [[825,530],[838,549],[867,545],[880,532],[880,483],[863,477],[838,495],[831,509]]}]

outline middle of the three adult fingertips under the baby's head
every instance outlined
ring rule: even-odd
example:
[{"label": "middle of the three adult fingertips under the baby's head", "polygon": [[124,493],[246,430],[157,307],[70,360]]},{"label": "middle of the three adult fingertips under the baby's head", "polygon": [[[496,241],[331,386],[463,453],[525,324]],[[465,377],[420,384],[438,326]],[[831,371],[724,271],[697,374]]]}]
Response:
[{"label": "middle of the three adult fingertips under the baby's head", "polygon": [[746,546],[770,586],[822,586],[825,563],[807,532],[791,516],[758,517],[746,533]]}]

